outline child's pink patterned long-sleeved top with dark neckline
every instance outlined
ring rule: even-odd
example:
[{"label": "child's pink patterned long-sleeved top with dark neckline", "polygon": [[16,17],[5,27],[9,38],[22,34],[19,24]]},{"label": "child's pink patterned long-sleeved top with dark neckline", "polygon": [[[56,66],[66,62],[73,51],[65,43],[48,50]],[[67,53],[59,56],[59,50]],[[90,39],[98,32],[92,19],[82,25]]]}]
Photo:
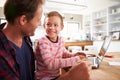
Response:
[{"label": "child's pink patterned long-sleeved top with dark neckline", "polygon": [[36,79],[53,79],[60,75],[60,68],[75,65],[78,61],[79,56],[73,56],[66,50],[62,37],[58,37],[56,43],[51,42],[46,36],[42,37],[36,47]]}]

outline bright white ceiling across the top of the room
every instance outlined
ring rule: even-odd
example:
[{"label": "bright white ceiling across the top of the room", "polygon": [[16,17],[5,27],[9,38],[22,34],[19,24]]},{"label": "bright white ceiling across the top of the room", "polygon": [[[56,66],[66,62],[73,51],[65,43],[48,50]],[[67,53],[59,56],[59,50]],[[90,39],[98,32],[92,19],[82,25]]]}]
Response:
[{"label": "bright white ceiling across the top of the room", "polygon": [[[5,1],[0,0],[0,7]],[[117,3],[120,0],[46,0],[45,12],[56,10],[60,13],[86,14]]]}]

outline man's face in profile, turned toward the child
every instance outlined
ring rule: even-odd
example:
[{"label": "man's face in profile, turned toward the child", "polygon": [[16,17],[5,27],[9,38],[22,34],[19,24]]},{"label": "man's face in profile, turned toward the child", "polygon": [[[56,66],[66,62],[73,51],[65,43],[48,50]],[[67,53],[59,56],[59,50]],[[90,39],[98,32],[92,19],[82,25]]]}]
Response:
[{"label": "man's face in profile, turned toward the child", "polygon": [[41,25],[42,11],[42,6],[40,5],[34,14],[33,19],[25,24],[22,32],[25,36],[33,36],[36,28]]}]

